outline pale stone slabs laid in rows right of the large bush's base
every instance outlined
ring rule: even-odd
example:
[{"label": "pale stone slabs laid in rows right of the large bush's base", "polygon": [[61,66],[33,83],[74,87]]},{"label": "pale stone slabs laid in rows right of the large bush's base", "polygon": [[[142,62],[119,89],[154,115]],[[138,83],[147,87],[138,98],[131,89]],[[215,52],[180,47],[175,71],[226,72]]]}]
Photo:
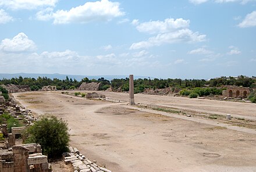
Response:
[{"label": "pale stone slabs laid in rows right of the large bush's base", "polygon": [[69,152],[63,153],[63,156],[66,164],[72,164],[74,172],[112,172],[98,166],[95,160],[91,162],[77,148],[72,148],[72,146],[69,146]]}]

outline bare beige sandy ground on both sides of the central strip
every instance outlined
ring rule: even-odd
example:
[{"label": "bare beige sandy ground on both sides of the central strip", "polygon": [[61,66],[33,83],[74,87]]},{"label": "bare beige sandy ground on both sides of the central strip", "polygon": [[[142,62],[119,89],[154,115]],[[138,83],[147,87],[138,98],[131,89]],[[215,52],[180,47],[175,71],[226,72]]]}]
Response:
[{"label": "bare beige sandy ground on both sides of the central strip", "polygon": [[[128,94],[101,93],[128,101]],[[61,92],[13,95],[38,116],[54,114],[67,120],[70,145],[112,171],[256,171],[255,134]],[[135,101],[256,117],[256,105],[252,103],[155,95],[135,95]]]}]

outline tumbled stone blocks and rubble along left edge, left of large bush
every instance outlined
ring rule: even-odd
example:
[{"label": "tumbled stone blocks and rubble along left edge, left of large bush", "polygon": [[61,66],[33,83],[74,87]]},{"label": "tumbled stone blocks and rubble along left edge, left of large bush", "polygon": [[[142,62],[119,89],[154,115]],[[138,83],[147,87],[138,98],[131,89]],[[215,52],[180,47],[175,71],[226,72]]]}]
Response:
[{"label": "tumbled stone blocks and rubble along left edge, left of large bush", "polygon": [[[31,111],[17,105],[13,99],[0,105],[0,115],[7,111],[16,119],[27,122],[31,125],[35,119]],[[20,135],[24,140],[26,127],[12,127],[8,133],[6,124],[2,124],[1,131],[5,139],[0,145],[0,171],[1,172],[50,172],[47,156],[42,155],[41,146],[37,144],[16,145],[16,137]]]}]

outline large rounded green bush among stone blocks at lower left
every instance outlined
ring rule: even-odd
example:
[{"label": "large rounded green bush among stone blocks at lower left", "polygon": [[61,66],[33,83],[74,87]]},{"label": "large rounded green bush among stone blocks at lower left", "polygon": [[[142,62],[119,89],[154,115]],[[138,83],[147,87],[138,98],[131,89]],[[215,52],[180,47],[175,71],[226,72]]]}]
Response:
[{"label": "large rounded green bush among stone blocks at lower left", "polygon": [[38,143],[42,146],[42,153],[49,157],[61,156],[67,151],[69,144],[67,123],[55,116],[43,116],[27,129],[29,138],[26,143]]}]

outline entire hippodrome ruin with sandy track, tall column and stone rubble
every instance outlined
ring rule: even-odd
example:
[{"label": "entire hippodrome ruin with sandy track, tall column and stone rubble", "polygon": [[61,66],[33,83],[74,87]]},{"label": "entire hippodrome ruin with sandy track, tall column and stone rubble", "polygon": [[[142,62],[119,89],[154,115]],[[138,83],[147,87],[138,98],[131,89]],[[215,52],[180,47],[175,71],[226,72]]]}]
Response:
[{"label": "entire hippodrome ruin with sandy track, tall column and stone rubble", "polygon": [[[129,93],[94,91],[88,87],[67,92],[46,89],[12,94],[13,99],[2,102],[0,114],[3,107],[13,116],[23,114],[27,125],[42,114],[55,114],[68,121],[71,141],[60,166],[48,162],[40,145],[22,144],[25,127],[13,127],[8,133],[3,125],[1,132],[7,139],[1,150],[1,170],[256,169],[256,156],[251,153],[256,148],[256,107],[243,100],[251,89],[227,87],[223,99],[234,98],[236,102],[189,99],[175,96],[175,90],[170,95],[134,95],[133,75],[129,78]],[[86,96],[75,95],[77,91]]]}]

